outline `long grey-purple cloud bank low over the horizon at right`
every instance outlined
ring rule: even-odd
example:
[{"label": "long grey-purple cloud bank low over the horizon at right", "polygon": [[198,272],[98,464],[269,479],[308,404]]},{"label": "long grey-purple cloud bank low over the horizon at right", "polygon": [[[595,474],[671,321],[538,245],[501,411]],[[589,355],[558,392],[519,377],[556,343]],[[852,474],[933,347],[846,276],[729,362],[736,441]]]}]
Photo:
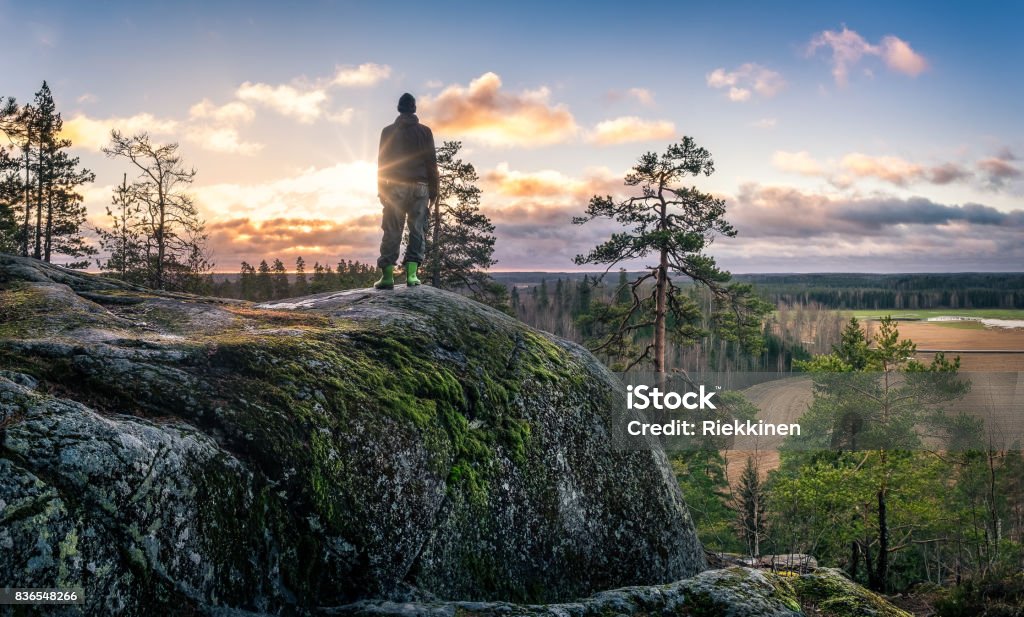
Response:
[{"label": "long grey-purple cloud bank low over the horizon at right", "polygon": [[826,195],[745,184],[726,200],[738,236],[716,257],[746,271],[964,271],[1024,259],[1024,211],[920,196]]}]

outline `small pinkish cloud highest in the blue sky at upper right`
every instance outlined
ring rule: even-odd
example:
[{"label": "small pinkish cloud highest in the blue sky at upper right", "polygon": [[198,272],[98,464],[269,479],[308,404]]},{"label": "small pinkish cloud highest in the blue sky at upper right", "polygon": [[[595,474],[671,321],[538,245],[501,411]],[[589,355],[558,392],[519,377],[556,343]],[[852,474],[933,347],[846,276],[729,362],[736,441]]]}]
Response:
[{"label": "small pinkish cloud highest in the blue sky at upper right", "polygon": [[864,56],[881,57],[891,71],[910,77],[916,77],[928,68],[928,60],[906,41],[889,35],[878,45],[871,45],[846,26],[839,32],[826,30],[815,35],[807,46],[807,54],[812,56],[821,48],[831,50],[833,77],[840,86],[847,85],[850,69]]}]

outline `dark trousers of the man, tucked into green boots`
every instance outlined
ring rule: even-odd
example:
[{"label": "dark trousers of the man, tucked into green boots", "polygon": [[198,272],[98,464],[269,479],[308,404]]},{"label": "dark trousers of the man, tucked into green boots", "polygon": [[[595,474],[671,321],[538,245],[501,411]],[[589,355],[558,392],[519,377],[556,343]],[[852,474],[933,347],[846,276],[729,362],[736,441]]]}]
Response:
[{"label": "dark trousers of the man, tucked into green boots", "polygon": [[430,196],[425,182],[414,184],[388,184],[381,193],[384,204],[384,216],[381,229],[381,256],[377,267],[393,266],[398,261],[398,251],[401,248],[401,234],[407,221],[409,223],[409,245],[406,246],[406,259],[402,263],[423,263],[427,251],[427,237],[424,235],[427,221],[430,218]]}]

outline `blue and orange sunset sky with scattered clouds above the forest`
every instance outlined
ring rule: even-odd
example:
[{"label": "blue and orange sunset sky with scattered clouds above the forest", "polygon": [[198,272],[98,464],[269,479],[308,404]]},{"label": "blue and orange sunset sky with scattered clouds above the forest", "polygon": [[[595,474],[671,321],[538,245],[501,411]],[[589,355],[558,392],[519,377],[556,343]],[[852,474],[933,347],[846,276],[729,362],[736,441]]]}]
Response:
[{"label": "blue and orange sunset sky with scattered clouds above the forest", "polygon": [[499,270],[574,269],[609,227],[570,218],[683,135],[735,272],[1024,269],[1022,3],[166,4],[0,0],[0,95],[48,81],[93,224],[112,128],[180,142],[218,270],[374,261],[406,91],[476,166]]}]

